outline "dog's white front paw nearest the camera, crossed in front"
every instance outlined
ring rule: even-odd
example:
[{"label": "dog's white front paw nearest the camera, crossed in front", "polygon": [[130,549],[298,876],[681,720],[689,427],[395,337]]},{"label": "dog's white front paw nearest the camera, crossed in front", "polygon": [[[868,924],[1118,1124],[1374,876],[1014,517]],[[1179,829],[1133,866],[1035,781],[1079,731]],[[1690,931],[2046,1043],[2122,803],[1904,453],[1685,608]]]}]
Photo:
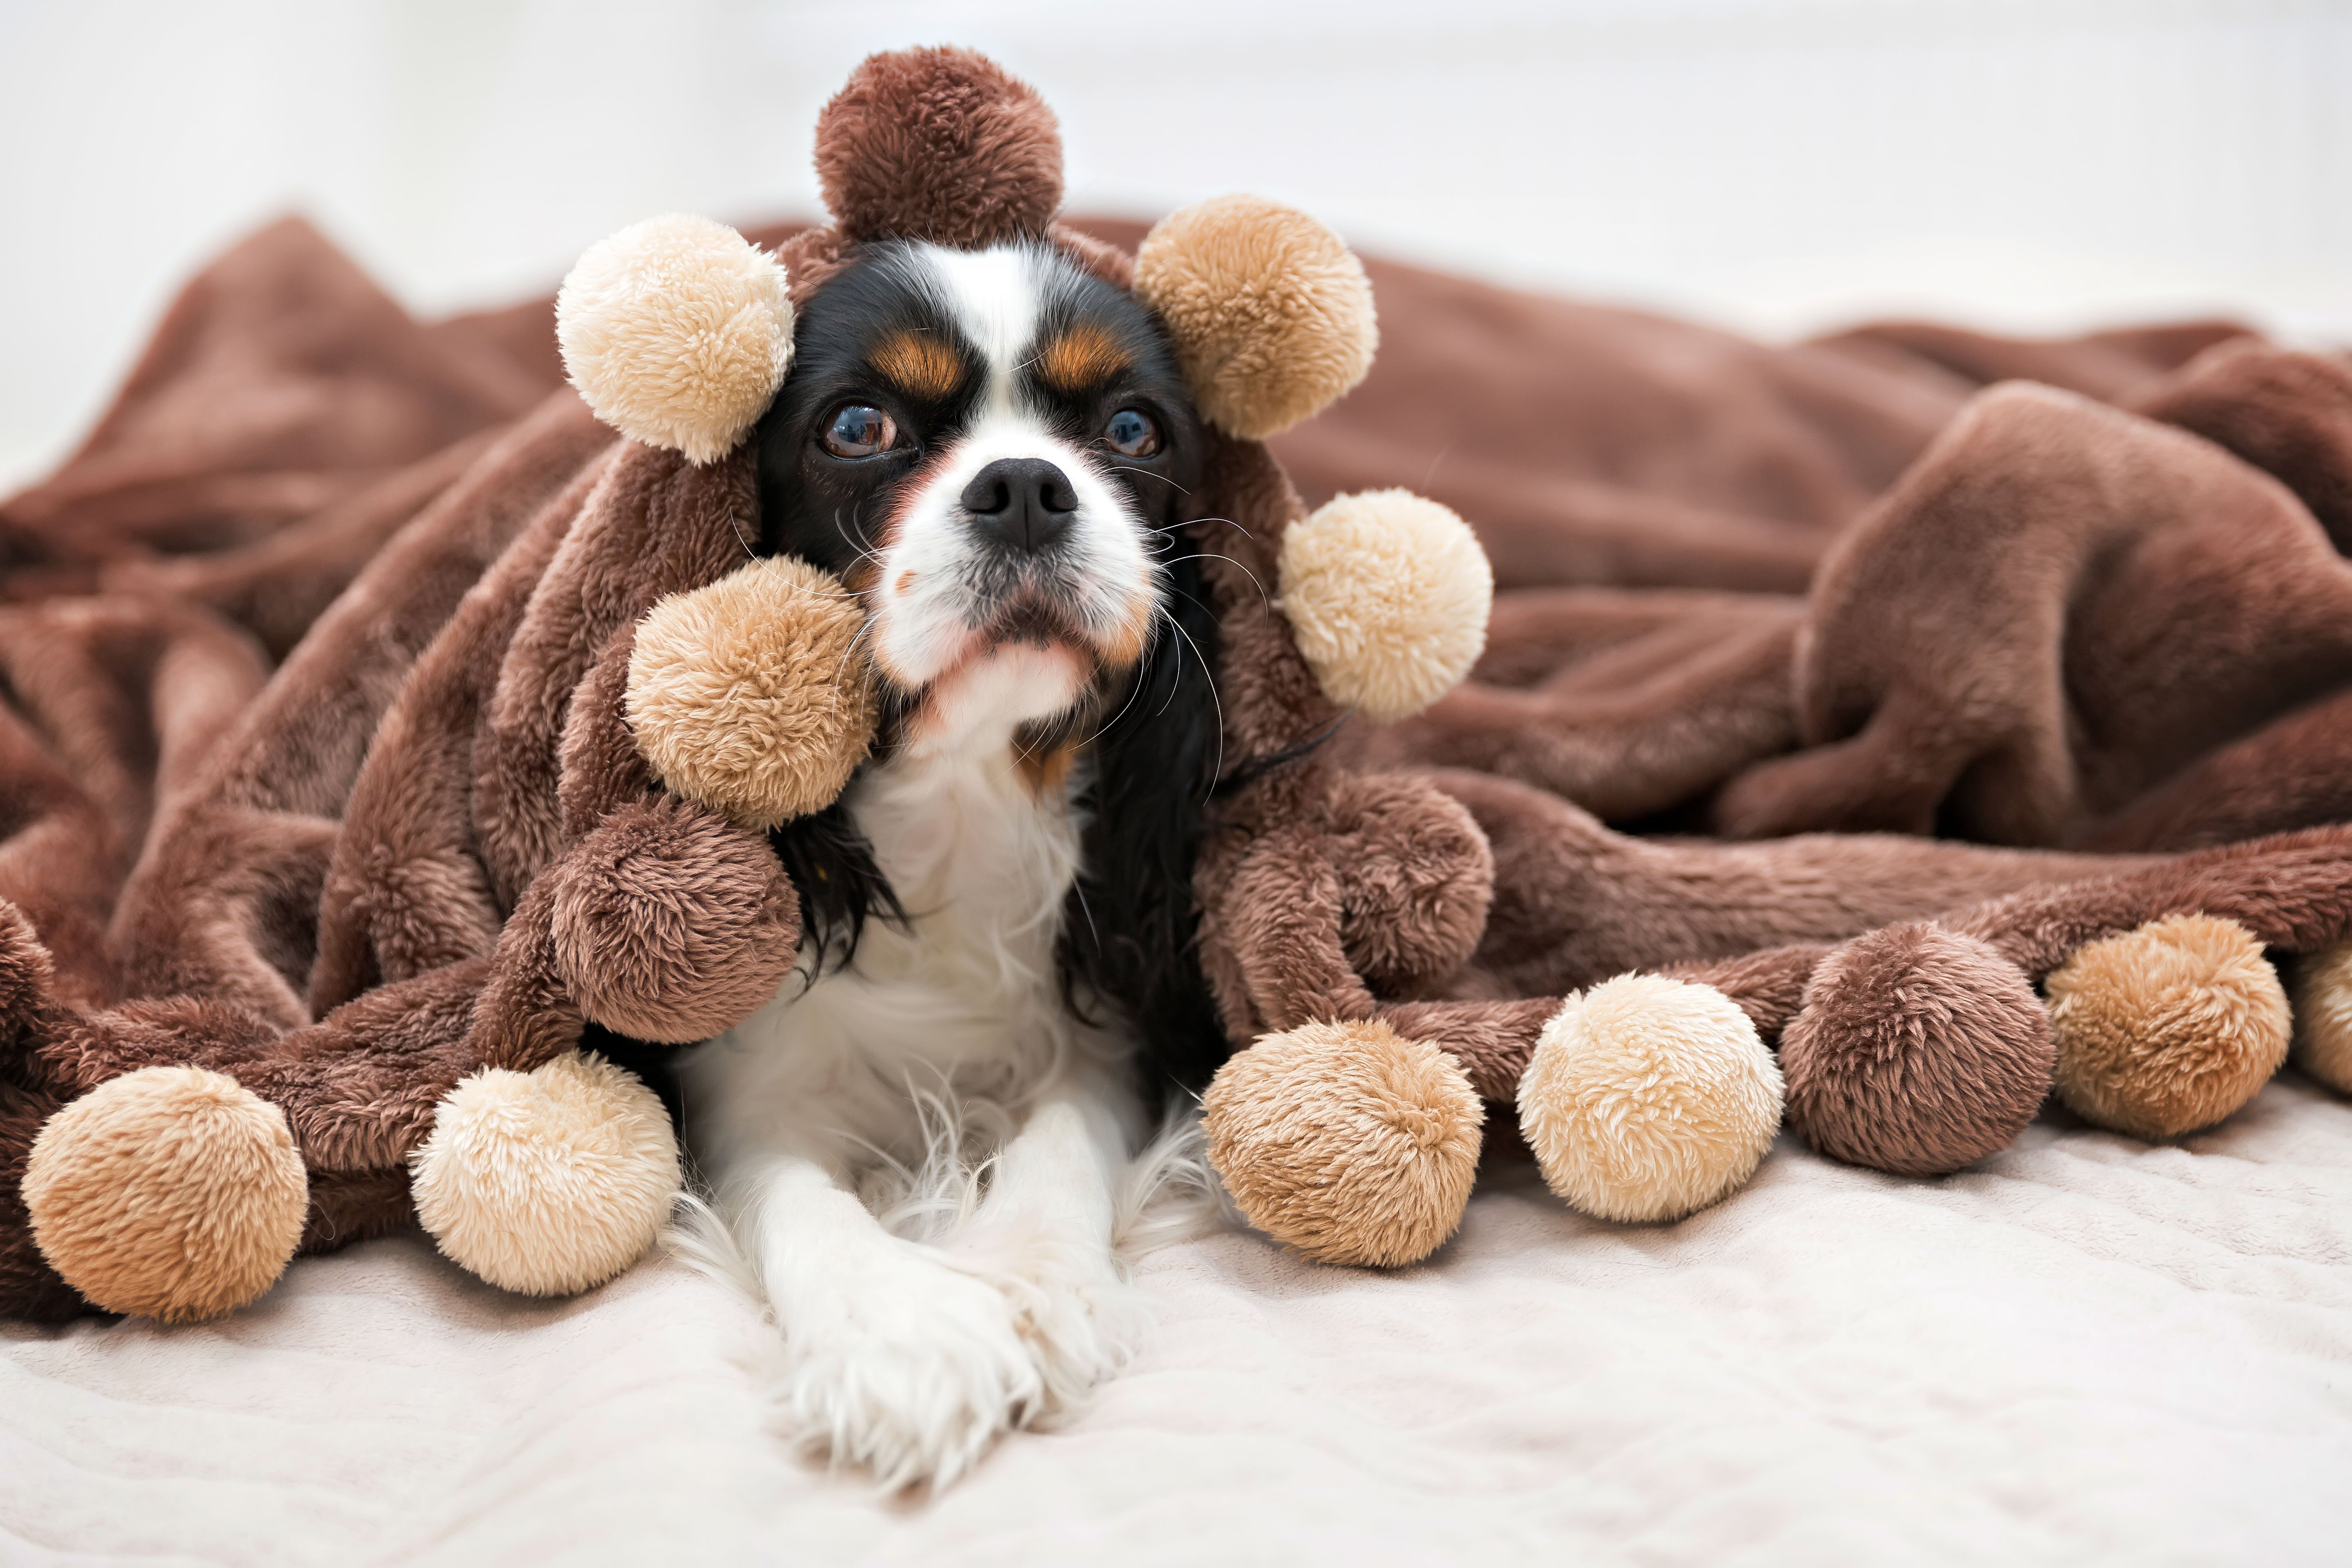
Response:
[{"label": "dog's white front paw nearest the camera, crossed in front", "polygon": [[908,1258],[896,1279],[788,1314],[776,1389],[797,1439],[884,1488],[946,1486],[1047,1408],[1014,1305]]}]

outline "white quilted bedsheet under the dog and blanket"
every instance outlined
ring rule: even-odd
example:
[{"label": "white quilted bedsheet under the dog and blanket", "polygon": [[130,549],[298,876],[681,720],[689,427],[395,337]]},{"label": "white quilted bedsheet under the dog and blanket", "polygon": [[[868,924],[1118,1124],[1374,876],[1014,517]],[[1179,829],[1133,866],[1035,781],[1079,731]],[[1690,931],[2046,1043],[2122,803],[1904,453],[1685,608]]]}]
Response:
[{"label": "white quilted bedsheet under the dog and blanket", "polygon": [[2284,1077],[2147,1147],[2046,1119],[1905,1182],[1783,1140],[1672,1227],[1489,1180],[1376,1276],[1247,1234],[927,1505],[797,1465],[755,1316],[668,1260],[574,1302],[421,1239],[202,1328],[7,1331],[0,1549],[54,1563],[2345,1563],[2352,1107]]}]

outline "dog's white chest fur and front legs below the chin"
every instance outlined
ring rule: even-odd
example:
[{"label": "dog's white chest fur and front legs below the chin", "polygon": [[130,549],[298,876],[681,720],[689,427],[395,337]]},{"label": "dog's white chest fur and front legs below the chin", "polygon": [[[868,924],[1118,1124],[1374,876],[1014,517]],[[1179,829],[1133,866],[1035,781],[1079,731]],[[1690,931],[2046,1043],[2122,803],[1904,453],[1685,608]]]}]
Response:
[{"label": "dog's white chest fur and front legs below the chin", "polygon": [[[894,1486],[950,1479],[997,1432],[1068,1406],[1134,1333],[1112,1246],[1138,1105],[1054,966],[1080,820],[1068,780],[1037,790],[1014,759],[1021,705],[1002,698],[1033,682],[1007,668],[981,684],[997,677],[997,701],[969,693],[976,722],[929,715],[854,785],[910,919],[868,922],[854,964],[788,980],[682,1065],[715,1199],[689,1255],[734,1258],[774,1309],[783,1422]],[[948,1204],[960,1220],[934,1246],[880,1227],[861,1190],[936,1164],[924,1105],[943,1098],[962,1119],[950,1145],[995,1131],[993,1178],[976,1206],[969,1185]],[[922,1208],[901,1180],[908,1197]]]}]

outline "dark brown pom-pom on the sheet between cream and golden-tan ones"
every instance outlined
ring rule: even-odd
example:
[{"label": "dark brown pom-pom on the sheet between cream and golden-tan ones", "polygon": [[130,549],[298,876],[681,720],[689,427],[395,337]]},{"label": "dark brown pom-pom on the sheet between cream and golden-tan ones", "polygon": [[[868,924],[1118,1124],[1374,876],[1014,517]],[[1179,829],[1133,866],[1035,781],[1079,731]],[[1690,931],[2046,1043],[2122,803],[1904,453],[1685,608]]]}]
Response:
[{"label": "dark brown pom-pom on the sheet between cream and golden-tan ones", "polygon": [[1985,943],[1905,922],[1813,969],[1780,1034],[1788,1126],[1846,1164],[1945,1175],[2006,1150],[2051,1088],[2051,1023]]}]

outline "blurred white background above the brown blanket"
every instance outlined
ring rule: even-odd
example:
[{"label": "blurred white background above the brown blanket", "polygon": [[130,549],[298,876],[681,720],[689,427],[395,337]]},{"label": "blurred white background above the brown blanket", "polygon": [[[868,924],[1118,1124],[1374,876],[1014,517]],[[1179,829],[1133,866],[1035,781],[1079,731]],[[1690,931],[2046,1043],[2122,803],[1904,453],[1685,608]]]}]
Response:
[{"label": "blurred white background above the brown blanket", "polygon": [[494,303],[649,212],[814,212],[816,108],[906,42],[1037,82],[1091,212],[1249,188],[1762,334],[2352,339],[2352,0],[0,0],[0,482],[273,212]]}]

